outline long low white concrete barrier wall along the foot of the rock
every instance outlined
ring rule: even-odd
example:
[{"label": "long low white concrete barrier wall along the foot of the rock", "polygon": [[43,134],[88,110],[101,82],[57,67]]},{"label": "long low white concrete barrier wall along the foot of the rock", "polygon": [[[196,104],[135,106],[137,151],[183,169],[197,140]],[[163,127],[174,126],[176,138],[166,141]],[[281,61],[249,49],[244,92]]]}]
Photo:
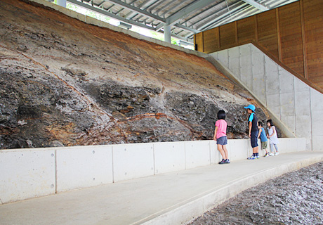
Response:
[{"label": "long low white concrete barrier wall along the foot of the rock", "polygon": [[[260,144],[260,141],[259,141]],[[306,139],[279,139],[279,152],[305,150]],[[228,140],[231,162],[252,154],[250,141]],[[261,156],[264,150],[259,150]],[[0,203],[175,172],[221,160],[216,141],[134,143],[0,150]]]}]

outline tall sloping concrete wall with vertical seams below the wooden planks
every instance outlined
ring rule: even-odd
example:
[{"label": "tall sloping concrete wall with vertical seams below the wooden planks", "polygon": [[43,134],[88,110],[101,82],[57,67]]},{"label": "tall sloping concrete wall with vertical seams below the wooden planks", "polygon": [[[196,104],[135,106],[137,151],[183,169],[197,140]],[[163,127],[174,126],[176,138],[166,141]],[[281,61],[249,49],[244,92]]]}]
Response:
[{"label": "tall sloping concrete wall with vertical seams below the wooden planks", "polygon": [[[306,139],[307,150],[323,150],[323,94],[281,68],[253,44],[211,53],[270,113],[286,133]],[[268,118],[269,119],[269,118]]]}]

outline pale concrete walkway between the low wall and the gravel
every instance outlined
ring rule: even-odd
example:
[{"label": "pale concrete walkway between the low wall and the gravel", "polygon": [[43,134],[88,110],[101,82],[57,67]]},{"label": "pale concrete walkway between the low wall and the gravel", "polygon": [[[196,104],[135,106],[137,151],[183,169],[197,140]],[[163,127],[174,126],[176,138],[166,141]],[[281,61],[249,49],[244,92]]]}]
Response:
[{"label": "pale concrete walkway between the low wall and the gravel", "polygon": [[323,161],[287,153],[0,205],[0,224],[183,224],[268,179]]}]

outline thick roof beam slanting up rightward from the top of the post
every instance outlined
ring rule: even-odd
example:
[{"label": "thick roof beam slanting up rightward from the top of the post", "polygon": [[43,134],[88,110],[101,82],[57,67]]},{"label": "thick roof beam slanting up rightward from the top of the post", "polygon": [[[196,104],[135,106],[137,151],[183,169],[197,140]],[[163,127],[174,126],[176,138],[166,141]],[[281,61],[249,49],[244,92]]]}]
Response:
[{"label": "thick roof beam slanting up rightward from the top of the post", "polygon": [[185,8],[182,8],[177,13],[174,13],[169,18],[166,18],[166,24],[167,25],[173,25],[178,22],[181,18],[185,17],[186,15],[189,15],[190,13],[193,13],[201,8],[204,8],[205,6],[209,6],[209,4],[214,3],[214,0],[199,0],[195,1],[190,6],[187,6]]}]

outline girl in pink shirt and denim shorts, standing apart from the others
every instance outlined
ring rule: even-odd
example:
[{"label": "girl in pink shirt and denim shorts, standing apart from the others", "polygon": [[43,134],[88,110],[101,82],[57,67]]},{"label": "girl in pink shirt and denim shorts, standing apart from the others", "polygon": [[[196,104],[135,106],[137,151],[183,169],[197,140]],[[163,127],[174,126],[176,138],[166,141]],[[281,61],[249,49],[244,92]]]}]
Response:
[{"label": "girl in pink shirt and denim shorts, standing apart from the others", "polygon": [[216,130],[214,131],[213,140],[218,145],[218,151],[222,155],[222,160],[218,164],[230,163],[227,147],[227,122],[225,121],[225,111],[218,111],[218,120],[216,121]]}]

